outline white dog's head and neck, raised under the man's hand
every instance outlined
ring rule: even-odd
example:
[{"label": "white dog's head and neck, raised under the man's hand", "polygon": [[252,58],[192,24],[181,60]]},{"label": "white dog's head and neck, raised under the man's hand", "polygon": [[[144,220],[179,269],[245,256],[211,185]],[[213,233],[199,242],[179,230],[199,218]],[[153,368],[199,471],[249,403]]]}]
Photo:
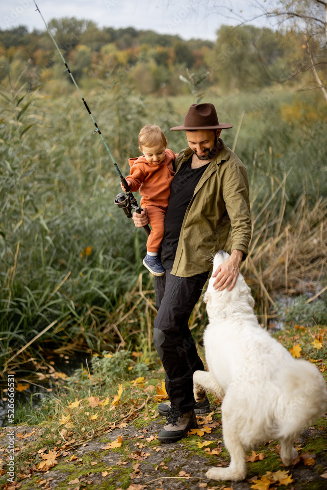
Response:
[{"label": "white dog's head and neck, raised under the man's hand", "polygon": [[[213,270],[225,262],[229,258],[229,254],[225,250],[220,250],[216,253],[213,260]],[[216,278],[209,279],[208,287],[203,295],[203,301],[206,303],[206,309],[209,318],[231,316],[233,313],[252,313],[254,307],[254,299],[251,295],[251,289],[240,273],[237,277],[236,284],[231,291],[228,288],[223,291],[217,291],[213,287]]]}]

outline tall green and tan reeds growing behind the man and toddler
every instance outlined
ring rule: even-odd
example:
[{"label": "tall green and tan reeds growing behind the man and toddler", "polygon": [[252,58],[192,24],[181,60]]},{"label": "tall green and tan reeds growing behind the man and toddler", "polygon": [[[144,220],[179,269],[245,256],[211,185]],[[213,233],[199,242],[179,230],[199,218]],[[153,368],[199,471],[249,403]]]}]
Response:
[{"label": "tall green and tan reeds growing behind the man and toddler", "polygon": [[[153,278],[141,260],[146,234],[113,204],[120,179],[83,104],[75,95],[51,98],[19,84],[1,87],[0,98],[2,365],[22,349],[23,360],[47,347],[101,351],[137,344],[150,351],[155,308]],[[183,135],[168,132],[180,120],[173,104],[140,98],[123,78],[92,91],[88,102],[125,174],[145,123],[177,138],[173,145],[169,140],[175,151],[174,144],[185,144]],[[276,291],[300,292],[308,274],[323,278],[326,201],[319,192],[309,199],[302,180],[297,196],[291,181],[290,196],[292,173],[280,167],[275,146],[254,158],[241,135],[235,151],[248,167],[253,218],[243,272],[267,322]],[[199,302],[190,319],[196,335],[203,323]]]}]

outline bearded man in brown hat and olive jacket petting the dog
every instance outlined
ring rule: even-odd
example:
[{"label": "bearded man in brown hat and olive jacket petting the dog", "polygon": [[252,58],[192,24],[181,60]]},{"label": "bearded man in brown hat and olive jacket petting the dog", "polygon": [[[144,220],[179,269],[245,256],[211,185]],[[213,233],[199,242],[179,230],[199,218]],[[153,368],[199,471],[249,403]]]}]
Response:
[{"label": "bearded man in brown hat and olive jacket petting the dog", "polygon": [[[153,343],[166,372],[170,403],[158,411],[167,423],[158,434],[161,442],[175,442],[196,424],[196,413],[209,411],[206,399],[196,404],[193,373],[204,370],[188,327],[191,312],[212,269],[215,253],[226,245],[231,231],[231,254],[217,270],[214,287],[230,291],[251,239],[249,184],[239,158],[219,138],[231,124],[219,123],[213,104],[192,104],[184,125],[188,147],[176,158],[161,244],[165,275],[155,277],[158,313]],[[133,214],[136,226],[148,223],[146,210]],[[195,412],[196,410],[196,412]]]}]

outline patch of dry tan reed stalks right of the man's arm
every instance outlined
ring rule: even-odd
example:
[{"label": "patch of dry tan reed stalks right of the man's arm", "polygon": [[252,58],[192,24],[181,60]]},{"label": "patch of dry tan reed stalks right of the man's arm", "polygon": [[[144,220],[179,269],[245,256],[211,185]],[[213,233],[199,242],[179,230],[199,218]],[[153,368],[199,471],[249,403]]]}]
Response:
[{"label": "patch of dry tan reed stalks right of the man's arm", "polygon": [[[259,232],[254,231],[245,274],[254,275],[261,290],[262,284],[269,285],[271,294],[303,293],[305,284],[321,279],[327,263],[327,199],[318,199],[310,207],[303,195],[286,223],[282,222],[284,202],[280,209],[275,223],[265,219]],[[261,241],[264,230],[268,235]]]}]

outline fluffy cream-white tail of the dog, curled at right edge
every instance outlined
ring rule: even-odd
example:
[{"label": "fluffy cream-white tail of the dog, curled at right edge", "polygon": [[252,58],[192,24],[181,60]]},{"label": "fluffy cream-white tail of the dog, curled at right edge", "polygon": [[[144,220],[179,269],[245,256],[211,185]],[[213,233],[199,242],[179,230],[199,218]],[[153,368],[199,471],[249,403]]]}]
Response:
[{"label": "fluffy cream-white tail of the dog, curled at right edge", "polygon": [[277,377],[282,387],[275,414],[278,436],[296,438],[326,411],[326,383],[316,366],[300,359],[281,368]]}]

